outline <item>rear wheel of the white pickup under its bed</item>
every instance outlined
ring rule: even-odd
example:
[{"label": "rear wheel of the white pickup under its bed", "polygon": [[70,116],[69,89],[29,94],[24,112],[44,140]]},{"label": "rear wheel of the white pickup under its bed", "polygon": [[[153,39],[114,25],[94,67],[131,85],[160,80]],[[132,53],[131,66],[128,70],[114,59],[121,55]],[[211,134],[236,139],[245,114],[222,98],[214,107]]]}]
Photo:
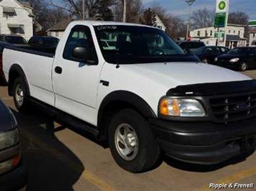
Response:
[{"label": "rear wheel of the white pickup under its bed", "polygon": [[14,80],[13,93],[14,104],[17,110],[22,113],[27,113],[30,108],[30,103],[28,101],[28,88],[24,78],[18,77]]}]

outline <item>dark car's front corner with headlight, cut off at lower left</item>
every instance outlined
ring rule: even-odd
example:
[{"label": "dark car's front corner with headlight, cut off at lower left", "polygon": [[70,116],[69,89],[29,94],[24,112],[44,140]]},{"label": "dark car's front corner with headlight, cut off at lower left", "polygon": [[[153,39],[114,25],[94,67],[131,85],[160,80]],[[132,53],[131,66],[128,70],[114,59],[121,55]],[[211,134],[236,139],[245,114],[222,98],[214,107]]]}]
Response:
[{"label": "dark car's front corner with headlight, cut off at lower left", "polygon": [[12,111],[0,100],[0,190],[25,187],[26,168],[21,163],[17,121]]}]

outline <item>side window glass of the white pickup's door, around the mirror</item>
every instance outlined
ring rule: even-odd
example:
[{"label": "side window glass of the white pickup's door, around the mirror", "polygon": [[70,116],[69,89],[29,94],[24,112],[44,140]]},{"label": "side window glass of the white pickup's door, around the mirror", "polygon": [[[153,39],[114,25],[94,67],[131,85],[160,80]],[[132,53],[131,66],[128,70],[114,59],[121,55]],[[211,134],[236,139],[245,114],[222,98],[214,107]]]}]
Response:
[{"label": "side window glass of the white pickup's door, around the mirror", "polygon": [[91,60],[97,60],[97,54],[89,27],[79,25],[71,29],[63,51],[63,58],[77,61],[72,57],[72,52],[76,47],[88,47],[88,49],[91,50]]}]

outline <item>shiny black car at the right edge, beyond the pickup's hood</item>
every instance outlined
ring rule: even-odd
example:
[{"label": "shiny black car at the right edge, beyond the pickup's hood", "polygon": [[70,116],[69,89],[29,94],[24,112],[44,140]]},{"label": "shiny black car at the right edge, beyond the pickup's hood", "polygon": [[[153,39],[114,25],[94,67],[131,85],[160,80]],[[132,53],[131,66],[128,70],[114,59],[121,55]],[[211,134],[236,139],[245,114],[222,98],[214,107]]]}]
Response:
[{"label": "shiny black car at the right edge, beyond the pickup's hood", "polygon": [[215,65],[245,71],[256,67],[256,47],[237,47],[215,59]]}]

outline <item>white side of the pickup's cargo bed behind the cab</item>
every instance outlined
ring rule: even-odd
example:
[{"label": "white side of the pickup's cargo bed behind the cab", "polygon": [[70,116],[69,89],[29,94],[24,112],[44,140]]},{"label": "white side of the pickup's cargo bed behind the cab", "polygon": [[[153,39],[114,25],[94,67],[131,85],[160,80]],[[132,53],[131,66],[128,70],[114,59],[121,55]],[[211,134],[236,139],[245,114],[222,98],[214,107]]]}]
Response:
[{"label": "white side of the pickup's cargo bed behind the cab", "polygon": [[3,71],[7,83],[10,68],[17,65],[25,74],[32,97],[40,98],[41,101],[52,105],[54,102],[53,57],[52,53],[40,52],[32,47],[6,47],[3,53]]}]

